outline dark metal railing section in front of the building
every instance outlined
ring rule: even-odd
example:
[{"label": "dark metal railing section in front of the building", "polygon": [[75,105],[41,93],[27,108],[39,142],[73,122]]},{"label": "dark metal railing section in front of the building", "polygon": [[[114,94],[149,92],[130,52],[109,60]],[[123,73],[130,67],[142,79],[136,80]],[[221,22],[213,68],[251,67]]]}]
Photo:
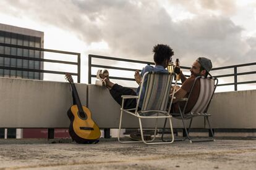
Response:
[{"label": "dark metal railing section in front of the building", "polygon": [[[77,56],[77,62],[67,62],[62,60],[51,60],[51,59],[41,59],[41,58],[34,58],[34,57],[23,57],[19,55],[9,55],[9,54],[0,54],[1,57],[6,57],[10,59],[24,59],[24,60],[33,60],[33,61],[40,61],[40,62],[50,62],[50,63],[64,63],[68,65],[77,65],[77,73],[70,73],[70,75],[77,76],[77,83],[80,83],[80,53],[77,52],[67,52],[67,51],[57,51],[53,49],[43,49],[38,47],[29,47],[29,46],[18,46],[14,44],[5,44],[0,43],[0,46],[4,47],[14,47],[19,49],[28,49],[33,51],[40,51],[40,52],[54,52],[58,54],[69,54],[69,55],[76,55]],[[32,71],[32,72],[38,72],[38,73],[51,73],[51,74],[58,74],[58,75],[65,75],[66,72],[63,71],[52,71],[52,70],[43,70],[43,69],[31,69],[31,68],[17,68],[17,67],[6,67],[6,66],[0,66],[0,69],[5,70],[19,70],[19,71]]]}]

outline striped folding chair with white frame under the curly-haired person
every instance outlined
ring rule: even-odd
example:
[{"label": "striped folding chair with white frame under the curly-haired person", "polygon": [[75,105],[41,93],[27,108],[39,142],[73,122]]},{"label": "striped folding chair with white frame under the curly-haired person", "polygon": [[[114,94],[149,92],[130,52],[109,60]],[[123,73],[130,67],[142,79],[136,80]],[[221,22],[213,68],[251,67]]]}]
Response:
[{"label": "striped folding chair with white frame under the curly-haired person", "polygon": [[[171,98],[169,97],[171,83],[173,81],[173,73],[155,73],[147,72],[143,75],[142,84],[139,92],[139,96],[135,95],[122,95],[122,107],[119,123],[118,141],[121,143],[135,143],[144,142],[145,144],[171,144],[174,141],[173,126],[171,123]],[[137,99],[136,108],[124,109],[124,101],[126,99]],[[142,107],[139,108],[139,102],[142,103]],[[135,110],[135,111],[134,111]],[[121,125],[123,113],[129,113],[135,118],[139,118],[140,134],[142,136],[141,141],[121,141]],[[143,118],[155,118],[155,132],[152,140],[144,140],[143,137]],[[158,118],[166,118],[169,120],[171,136],[168,142],[155,142],[157,121]]]}]

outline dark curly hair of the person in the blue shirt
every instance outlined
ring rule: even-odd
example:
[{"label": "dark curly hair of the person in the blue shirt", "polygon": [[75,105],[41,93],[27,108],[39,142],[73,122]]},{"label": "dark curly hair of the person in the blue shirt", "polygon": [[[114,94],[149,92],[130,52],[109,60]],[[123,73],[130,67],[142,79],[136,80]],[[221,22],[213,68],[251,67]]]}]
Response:
[{"label": "dark curly hair of the person in the blue shirt", "polygon": [[154,61],[156,64],[161,64],[164,62],[164,60],[171,59],[171,56],[174,55],[173,49],[169,47],[168,45],[164,44],[157,44],[153,47],[154,54]]}]

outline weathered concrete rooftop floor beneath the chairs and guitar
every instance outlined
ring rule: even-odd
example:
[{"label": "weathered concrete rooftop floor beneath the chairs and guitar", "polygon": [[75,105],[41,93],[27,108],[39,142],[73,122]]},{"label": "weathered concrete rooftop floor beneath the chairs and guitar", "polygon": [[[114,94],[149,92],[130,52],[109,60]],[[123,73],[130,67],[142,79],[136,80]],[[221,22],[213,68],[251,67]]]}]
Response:
[{"label": "weathered concrete rooftop floor beneath the chairs and guitar", "polygon": [[[63,142],[63,143],[59,143]],[[0,169],[255,169],[256,140],[119,144],[2,139]]]}]

